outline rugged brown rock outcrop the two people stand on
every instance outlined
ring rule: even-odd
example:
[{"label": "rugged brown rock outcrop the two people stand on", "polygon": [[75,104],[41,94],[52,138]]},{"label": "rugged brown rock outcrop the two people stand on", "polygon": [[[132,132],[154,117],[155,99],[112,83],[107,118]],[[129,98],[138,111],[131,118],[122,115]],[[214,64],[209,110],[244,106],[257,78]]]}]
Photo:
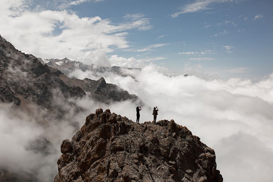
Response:
[{"label": "rugged brown rock outcrop the two people stand on", "polygon": [[61,150],[55,182],[223,181],[214,150],[174,120],[136,124],[97,109]]}]

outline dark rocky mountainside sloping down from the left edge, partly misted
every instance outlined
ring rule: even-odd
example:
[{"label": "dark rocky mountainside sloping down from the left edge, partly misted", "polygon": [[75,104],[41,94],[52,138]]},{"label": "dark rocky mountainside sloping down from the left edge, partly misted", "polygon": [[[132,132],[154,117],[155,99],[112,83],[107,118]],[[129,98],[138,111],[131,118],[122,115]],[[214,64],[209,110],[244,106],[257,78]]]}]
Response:
[{"label": "dark rocky mountainside sloping down from the left edge, partly misted", "polygon": [[[68,59],[64,59],[68,62]],[[77,81],[80,84],[77,84]],[[93,99],[109,103],[137,96],[130,95],[113,84],[99,84],[101,81],[81,82],[71,80],[58,69],[43,65],[35,56],[22,53],[0,36],[0,100],[14,102],[17,106],[34,103],[47,110],[55,107],[54,97],[83,97],[88,92]],[[104,81],[105,82],[105,81]],[[74,84],[67,84],[74,83]],[[97,84],[96,84],[97,83]],[[91,85],[89,85],[91,84]],[[81,86],[81,87],[80,87]],[[95,86],[95,87],[93,87]],[[98,90],[107,89],[106,92]]]}]

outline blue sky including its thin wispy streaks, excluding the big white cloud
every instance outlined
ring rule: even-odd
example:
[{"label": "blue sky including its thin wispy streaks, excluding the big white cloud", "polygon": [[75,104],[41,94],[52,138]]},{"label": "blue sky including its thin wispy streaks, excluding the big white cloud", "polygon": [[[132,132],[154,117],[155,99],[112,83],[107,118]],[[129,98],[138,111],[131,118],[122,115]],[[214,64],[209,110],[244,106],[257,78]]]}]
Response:
[{"label": "blue sky including its thin wispy streaks, excluding the big white cloud", "polygon": [[[126,59],[133,57],[177,73],[187,72],[187,65],[221,78],[257,79],[272,73],[273,2],[269,0],[32,1],[24,11],[46,10],[66,10],[79,19],[99,16],[116,27],[144,21],[145,25],[132,29],[116,28],[113,32],[104,33],[123,33],[122,39],[126,41],[123,46],[114,43],[103,46],[111,49],[106,50],[109,58],[112,55]],[[59,36],[67,29],[59,29],[61,25],[50,30],[49,35],[44,35]],[[36,55],[40,56],[38,52]]]}]

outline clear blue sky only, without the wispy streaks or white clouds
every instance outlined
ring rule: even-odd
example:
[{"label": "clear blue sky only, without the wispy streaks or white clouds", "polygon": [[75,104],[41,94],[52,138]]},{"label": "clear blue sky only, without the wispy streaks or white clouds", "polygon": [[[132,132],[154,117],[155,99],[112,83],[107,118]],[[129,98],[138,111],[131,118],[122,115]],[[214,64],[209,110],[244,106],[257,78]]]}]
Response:
[{"label": "clear blue sky only, without the wispy streaks or white clouds", "polygon": [[[180,7],[189,3],[194,1],[105,0],[97,3],[82,3],[72,6],[71,9],[79,16],[100,16],[103,19],[110,18],[116,23],[124,21],[123,16],[127,14],[143,14],[150,18],[153,28],[147,31],[129,31],[127,40],[131,42],[132,48],[142,49],[152,44],[170,43],[155,48],[154,51],[124,52],[123,49],[118,49],[113,54],[140,59],[166,57],[153,62],[165,63],[165,66],[171,69],[183,68],[188,62],[193,65],[200,64],[211,72],[214,68],[217,71],[230,70],[228,73],[232,73],[233,70],[234,74],[242,72],[244,74],[240,73],[240,75],[243,77],[272,73],[272,1],[247,0],[223,3],[216,1],[209,4],[208,9],[184,13],[172,18],[172,14],[179,12]],[[262,18],[253,20],[256,15],[262,15]],[[228,33],[220,33],[224,31]],[[215,34],[218,35],[214,36]],[[232,47],[230,53],[224,46]],[[212,50],[214,53],[179,54],[179,52],[206,50]],[[150,54],[137,56],[149,52]],[[190,58],[213,60],[189,60]]]}]

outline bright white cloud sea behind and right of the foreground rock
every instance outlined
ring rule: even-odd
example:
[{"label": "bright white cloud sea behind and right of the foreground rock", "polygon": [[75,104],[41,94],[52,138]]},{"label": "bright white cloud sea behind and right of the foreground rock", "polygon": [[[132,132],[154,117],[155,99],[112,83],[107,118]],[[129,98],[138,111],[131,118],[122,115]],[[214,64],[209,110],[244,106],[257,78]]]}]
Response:
[{"label": "bright white cloud sea behind and right of the foreground rock", "polygon": [[[225,181],[272,181],[273,174],[273,74],[251,79],[221,80],[212,76],[166,76],[157,66],[142,70],[124,69],[130,76],[111,72],[101,75],[76,70],[69,76],[99,79],[136,94],[143,102],[140,123],[171,120],[192,131],[216,153],[217,168]],[[136,105],[115,103],[112,112],[136,120]],[[106,108],[103,108],[106,109]],[[262,171],[263,175],[258,175]],[[240,174],[240,175],[239,175]]]}]

